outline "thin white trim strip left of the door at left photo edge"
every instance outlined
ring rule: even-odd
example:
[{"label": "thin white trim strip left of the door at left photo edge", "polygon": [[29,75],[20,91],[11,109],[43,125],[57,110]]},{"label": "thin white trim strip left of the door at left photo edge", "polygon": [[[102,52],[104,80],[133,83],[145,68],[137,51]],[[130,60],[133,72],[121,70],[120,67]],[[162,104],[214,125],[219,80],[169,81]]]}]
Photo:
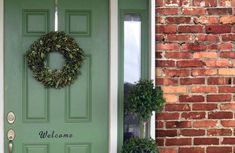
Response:
[{"label": "thin white trim strip left of the door at left photo edge", "polygon": [[4,153],[4,5],[0,0],[0,152]]}]

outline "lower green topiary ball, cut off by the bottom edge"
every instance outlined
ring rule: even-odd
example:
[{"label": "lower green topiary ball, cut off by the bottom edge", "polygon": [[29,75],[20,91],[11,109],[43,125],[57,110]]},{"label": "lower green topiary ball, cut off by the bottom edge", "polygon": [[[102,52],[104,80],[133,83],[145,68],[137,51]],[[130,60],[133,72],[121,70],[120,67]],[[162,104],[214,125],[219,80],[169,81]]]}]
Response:
[{"label": "lower green topiary ball, cut off by the bottom edge", "polygon": [[155,141],[132,137],[122,147],[122,153],[159,153]]}]

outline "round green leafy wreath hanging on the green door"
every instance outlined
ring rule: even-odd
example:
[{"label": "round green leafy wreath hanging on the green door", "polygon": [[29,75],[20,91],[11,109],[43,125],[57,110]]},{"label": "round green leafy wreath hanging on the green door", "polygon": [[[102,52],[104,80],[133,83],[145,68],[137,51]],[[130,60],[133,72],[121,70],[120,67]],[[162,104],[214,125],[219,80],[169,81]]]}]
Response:
[{"label": "round green leafy wreath hanging on the green door", "polygon": [[[62,69],[50,69],[48,54],[59,52],[65,58]],[[26,53],[26,60],[33,77],[47,88],[62,88],[73,83],[81,73],[84,52],[76,41],[64,32],[49,32],[35,41]]]}]

